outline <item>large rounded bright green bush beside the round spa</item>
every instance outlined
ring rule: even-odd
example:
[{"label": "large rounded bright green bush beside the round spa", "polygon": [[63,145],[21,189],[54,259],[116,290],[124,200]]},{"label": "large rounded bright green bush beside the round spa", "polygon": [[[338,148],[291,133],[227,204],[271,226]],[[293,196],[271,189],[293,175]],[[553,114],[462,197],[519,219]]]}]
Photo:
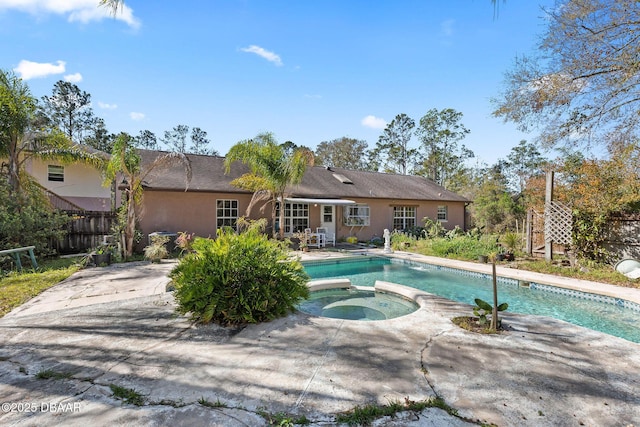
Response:
[{"label": "large rounded bright green bush beside the round spa", "polygon": [[170,277],[177,310],[198,323],[265,322],[309,297],[309,276],[289,257],[287,242],[270,240],[258,227],[239,234],[222,229],[215,240],[196,238],[193,250]]}]

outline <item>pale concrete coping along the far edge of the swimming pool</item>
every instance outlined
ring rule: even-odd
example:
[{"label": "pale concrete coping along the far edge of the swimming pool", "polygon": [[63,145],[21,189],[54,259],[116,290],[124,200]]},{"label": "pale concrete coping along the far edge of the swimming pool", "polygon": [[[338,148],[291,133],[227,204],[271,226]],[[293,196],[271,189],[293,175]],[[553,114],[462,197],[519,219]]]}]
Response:
[{"label": "pale concrete coping along the far edge of the swimming pool", "polygon": [[[419,262],[441,267],[448,267],[458,270],[466,270],[474,273],[491,275],[491,264],[479,264],[470,261],[460,261],[448,258],[431,257],[412,252],[394,251],[384,253],[381,249],[367,249],[360,252],[324,252],[313,253],[302,256],[301,261],[322,261],[340,258],[357,258],[358,256],[369,255],[399,259],[403,261]],[[517,280],[519,282],[536,283],[570,291],[578,291],[588,294],[602,295],[631,302],[640,307],[640,289],[625,288],[603,282],[593,282],[583,279],[555,276],[552,274],[537,273],[527,270],[519,270],[503,264],[496,265],[496,275],[499,277]]]}]

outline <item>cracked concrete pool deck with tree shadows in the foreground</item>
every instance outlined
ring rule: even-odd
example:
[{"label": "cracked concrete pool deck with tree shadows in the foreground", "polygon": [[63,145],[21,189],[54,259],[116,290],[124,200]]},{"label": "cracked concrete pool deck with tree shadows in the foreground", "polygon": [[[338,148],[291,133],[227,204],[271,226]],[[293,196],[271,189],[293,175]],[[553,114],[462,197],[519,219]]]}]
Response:
[{"label": "cracked concrete pool deck with tree shadows in the foreground", "polygon": [[[451,322],[469,306],[436,296],[380,322],[294,313],[195,327],[165,292],[174,265],[82,270],[0,319],[0,424],[261,426],[283,413],[331,426],[356,406],[437,395],[458,417],[426,409],[374,425],[640,425],[639,344],[513,313],[507,332],[477,335]],[[36,378],[46,370],[63,378]],[[112,385],[145,404],[123,404]]]}]

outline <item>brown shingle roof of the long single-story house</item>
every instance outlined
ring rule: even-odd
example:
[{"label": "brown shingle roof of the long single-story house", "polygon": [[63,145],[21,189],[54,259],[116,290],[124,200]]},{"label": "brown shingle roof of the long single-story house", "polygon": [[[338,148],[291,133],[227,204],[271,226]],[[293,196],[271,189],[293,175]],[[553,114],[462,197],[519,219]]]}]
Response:
[{"label": "brown shingle roof of the long single-story house", "polygon": [[[140,150],[144,163],[164,154],[159,151]],[[188,155],[193,178],[188,191],[248,193],[229,184],[249,169],[234,162],[228,175],[224,173],[224,157]],[[345,180],[346,178],[346,180]],[[343,182],[345,181],[345,182]],[[351,183],[346,183],[350,181]],[[151,190],[184,191],[184,168],[179,165],[154,171],[145,179]],[[307,198],[376,198],[404,200],[469,200],[433,181],[411,175],[356,171],[342,168],[314,166],[307,169],[302,183],[289,189],[292,197]]]}]

